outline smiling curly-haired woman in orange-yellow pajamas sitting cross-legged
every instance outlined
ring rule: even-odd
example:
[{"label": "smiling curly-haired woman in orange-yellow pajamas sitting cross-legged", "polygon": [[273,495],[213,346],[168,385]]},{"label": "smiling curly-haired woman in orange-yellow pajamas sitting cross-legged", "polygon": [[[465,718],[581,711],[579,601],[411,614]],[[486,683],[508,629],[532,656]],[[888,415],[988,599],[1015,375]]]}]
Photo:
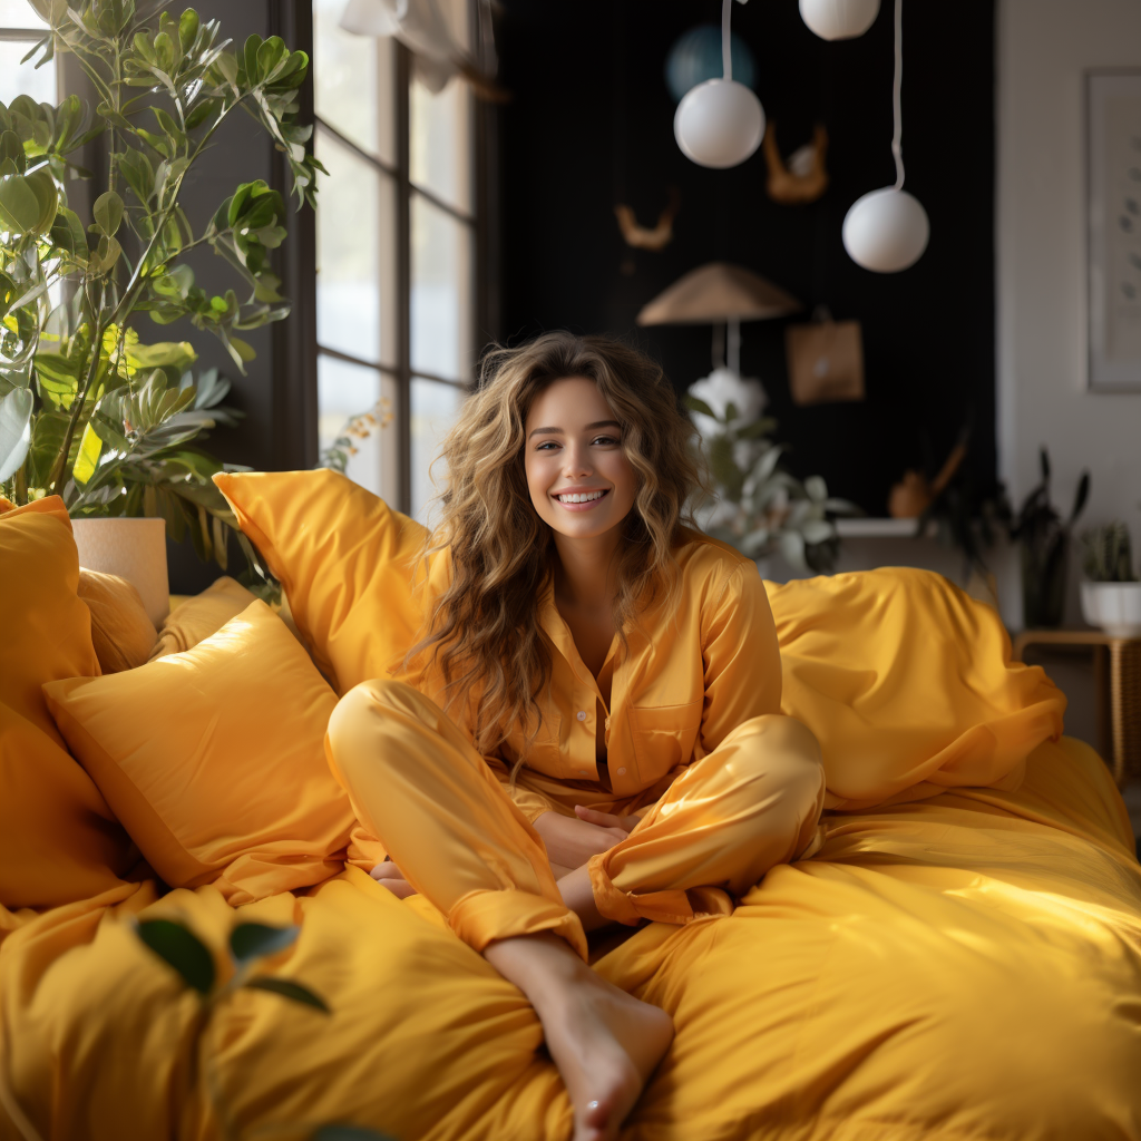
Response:
[{"label": "smiling curly-haired woman in orange-yellow pajamas sitting cross-legged", "polygon": [[764,586],[686,526],[690,435],[618,341],[492,354],[444,442],[424,637],[329,725],[374,877],[532,1002],[575,1141],[617,1136],[673,1034],[585,932],[728,914],[817,843],[820,753],[779,713]]}]

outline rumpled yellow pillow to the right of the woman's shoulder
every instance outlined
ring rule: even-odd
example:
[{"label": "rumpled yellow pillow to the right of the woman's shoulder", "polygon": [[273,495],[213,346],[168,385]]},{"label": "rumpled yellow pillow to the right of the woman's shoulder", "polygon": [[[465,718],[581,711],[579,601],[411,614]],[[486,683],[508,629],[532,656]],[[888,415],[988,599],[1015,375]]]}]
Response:
[{"label": "rumpled yellow pillow to the right of the woman's shoulder", "polygon": [[1061,690],[1011,663],[995,610],[941,575],[882,567],[766,586],[780,707],[820,742],[830,808],[1017,786],[1062,731]]}]

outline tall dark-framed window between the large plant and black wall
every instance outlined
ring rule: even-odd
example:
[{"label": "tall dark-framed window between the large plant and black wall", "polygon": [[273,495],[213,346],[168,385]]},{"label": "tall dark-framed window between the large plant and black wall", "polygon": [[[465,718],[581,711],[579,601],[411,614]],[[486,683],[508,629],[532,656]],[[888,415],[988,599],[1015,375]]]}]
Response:
[{"label": "tall dark-framed window between the large plant and black wall", "polygon": [[[470,0],[439,0],[467,46]],[[426,520],[429,467],[471,380],[474,107],[434,92],[391,39],[339,26],[314,0],[317,387],[322,450],[354,416],[347,472]],[[435,475],[439,476],[438,468]]]}]

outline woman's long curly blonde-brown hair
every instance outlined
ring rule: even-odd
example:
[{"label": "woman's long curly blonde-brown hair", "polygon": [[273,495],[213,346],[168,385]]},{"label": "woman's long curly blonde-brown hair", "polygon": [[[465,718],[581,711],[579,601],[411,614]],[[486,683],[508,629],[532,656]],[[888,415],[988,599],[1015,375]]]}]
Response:
[{"label": "woman's long curly blonde-brown hair", "polygon": [[637,477],[633,509],[623,520],[614,623],[625,628],[655,598],[672,600],[672,550],[693,526],[690,494],[704,480],[689,446],[693,427],[662,369],[607,337],[544,333],[518,348],[496,348],[442,448],[447,478],[437,496],[438,526],[426,555],[450,550],[452,578],[436,599],[428,650],[443,674],[446,704],[482,690],[476,746],[492,753],[512,725],[542,723],[539,695],[550,654],[539,605],[551,580],[551,528],[535,511],[524,469],[524,426],[535,397],[557,380],[598,385],[622,426],[622,448]]}]

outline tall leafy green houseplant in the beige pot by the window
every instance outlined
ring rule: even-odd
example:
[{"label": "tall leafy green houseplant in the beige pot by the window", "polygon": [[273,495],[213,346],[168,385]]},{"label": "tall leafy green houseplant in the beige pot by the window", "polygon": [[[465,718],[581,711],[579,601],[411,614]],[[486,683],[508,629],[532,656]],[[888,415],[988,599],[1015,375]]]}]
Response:
[{"label": "tall leafy green houseplant in the beige pot by the window", "polygon": [[[277,37],[232,50],[193,8],[176,17],[136,0],[30,3],[50,31],[29,57],[73,54],[97,104],[0,104],[0,492],[16,503],[59,494],[74,517],[161,516],[172,539],[189,532],[201,557],[225,566],[236,521],[210,479],[221,464],[195,440],[234,422],[229,383],[194,375],[191,342],[145,333],[185,318],[244,373],[253,350],[240,333],[289,314],[270,265],[285,237],[282,196],[242,183],[201,232],[181,199],[242,111],[285,154],[299,208],[313,203],[321,167],[305,146],[311,126],[297,122],[308,57]],[[83,219],[67,191],[94,177],[78,154],[97,136],[106,188]],[[205,245],[236,289],[211,296],[195,283],[184,259]]]}]

